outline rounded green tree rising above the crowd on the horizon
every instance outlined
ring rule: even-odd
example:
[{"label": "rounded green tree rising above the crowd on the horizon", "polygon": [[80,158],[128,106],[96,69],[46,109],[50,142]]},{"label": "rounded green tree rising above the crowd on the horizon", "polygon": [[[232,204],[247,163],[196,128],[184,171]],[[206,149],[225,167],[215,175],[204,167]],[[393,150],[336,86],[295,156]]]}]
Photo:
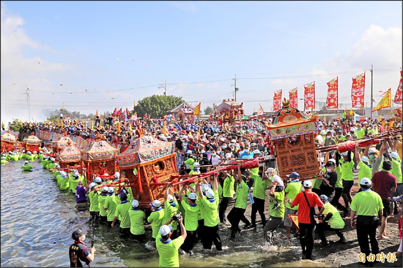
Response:
[{"label": "rounded green tree rising above the crowd on the horizon", "polygon": [[137,116],[139,117],[143,117],[147,114],[151,116],[151,118],[162,118],[182,102],[182,97],[153,95],[140,100],[133,110],[133,113],[137,112]]}]

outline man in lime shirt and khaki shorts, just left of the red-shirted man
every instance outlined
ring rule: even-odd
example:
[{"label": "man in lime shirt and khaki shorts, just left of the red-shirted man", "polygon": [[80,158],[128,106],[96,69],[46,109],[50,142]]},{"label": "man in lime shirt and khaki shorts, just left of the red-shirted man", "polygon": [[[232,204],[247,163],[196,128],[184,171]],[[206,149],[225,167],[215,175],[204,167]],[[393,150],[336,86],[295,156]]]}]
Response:
[{"label": "man in lime shirt and khaki shorts, just left of the red-shirted man", "polygon": [[[291,201],[293,201],[294,198],[299,193],[302,192],[302,184],[299,181],[299,174],[297,172],[292,172],[290,175],[287,175],[287,177],[290,179],[290,183],[287,185],[287,187],[284,191],[287,194],[287,200],[291,199]],[[298,205],[295,206],[294,208],[291,208],[290,204],[287,202],[286,209],[284,212],[284,226],[286,227],[286,231],[287,231],[286,237],[287,238],[291,238],[291,226],[293,226],[288,215],[297,214],[297,213],[298,213]]]}]

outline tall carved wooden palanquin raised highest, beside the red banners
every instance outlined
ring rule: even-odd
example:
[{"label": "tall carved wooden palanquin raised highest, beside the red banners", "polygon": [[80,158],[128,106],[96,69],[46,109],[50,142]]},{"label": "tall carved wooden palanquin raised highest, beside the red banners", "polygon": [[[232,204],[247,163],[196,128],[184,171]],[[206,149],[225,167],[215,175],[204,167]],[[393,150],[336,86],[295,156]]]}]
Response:
[{"label": "tall carved wooden palanquin raised highest, beside the red banners", "polygon": [[298,109],[289,107],[286,99],[283,107],[277,112],[274,123],[266,125],[267,140],[276,149],[279,176],[286,181],[286,175],[294,171],[300,174],[300,179],[316,176],[320,172],[314,141],[316,114],[308,118]]}]

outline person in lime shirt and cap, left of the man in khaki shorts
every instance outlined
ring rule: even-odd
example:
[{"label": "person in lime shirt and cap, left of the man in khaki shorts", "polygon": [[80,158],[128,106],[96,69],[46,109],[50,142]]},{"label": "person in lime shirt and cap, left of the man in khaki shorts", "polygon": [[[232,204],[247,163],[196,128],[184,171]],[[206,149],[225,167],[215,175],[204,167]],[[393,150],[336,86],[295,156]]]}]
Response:
[{"label": "person in lime shirt and cap, left of the man in khaki shorts", "polygon": [[[268,218],[268,221],[263,228],[263,237],[269,245],[273,244],[276,237],[276,229],[283,222],[284,218],[284,187],[278,187],[278,184],[278,181],[273,181],[269,186],[270,192],[268,195],[270,196],[270,218]],[[276,201],[280,206],[278,206],[277,209],[274,209]]]}]

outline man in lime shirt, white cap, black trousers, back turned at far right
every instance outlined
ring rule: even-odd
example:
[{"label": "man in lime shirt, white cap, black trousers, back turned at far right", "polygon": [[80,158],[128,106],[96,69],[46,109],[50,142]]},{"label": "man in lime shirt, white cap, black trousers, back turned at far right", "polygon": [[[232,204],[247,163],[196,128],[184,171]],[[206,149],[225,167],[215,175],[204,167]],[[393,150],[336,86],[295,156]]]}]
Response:
[{"label": "man in lime shirt, white cap, black trousers, back turned at far right", "polygon": [[[372,254],[379,253],[376,228],[381,225],[383,204],[381,197],[371,190],[371,181],[363,177],[360,181],[362,192],[357,193],[351,203],[351,227],[357,228],[357,239],[361,253],[370,254],[368,236],[371,241]],[[355,216],[357,215],[357,220]],[[368,264],[367,264],[368,263]],[[371,265],[372,262],[364,262]]]}]

